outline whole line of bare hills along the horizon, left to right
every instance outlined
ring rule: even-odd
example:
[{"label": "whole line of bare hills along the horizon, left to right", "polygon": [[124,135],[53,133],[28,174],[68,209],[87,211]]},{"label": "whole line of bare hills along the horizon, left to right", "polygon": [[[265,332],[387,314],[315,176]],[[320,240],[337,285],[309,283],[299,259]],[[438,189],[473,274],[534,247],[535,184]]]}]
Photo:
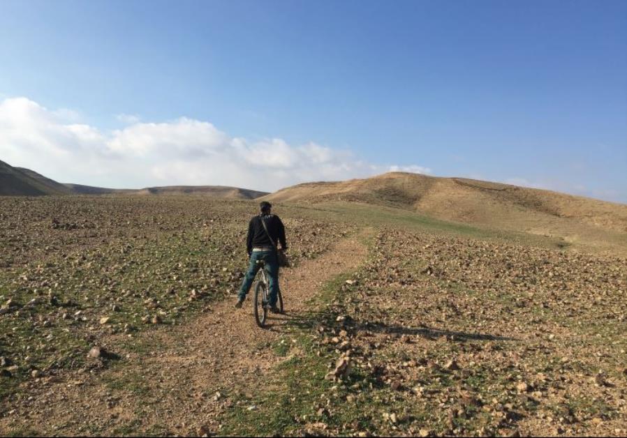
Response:
[{"label": "whole line of bare hills along the horizon, left to right", "polygon": [[[0,161],[0,195],[203,195],[273,202],[357,202],[434,218],[577,241],[598,230],[627,233],[627,205],[464,178],[390,172],[367,179],[302,183],[274,193],[226,186],[111,189],[61,184]],[[619,239],[622,241],[622,237]]]}]

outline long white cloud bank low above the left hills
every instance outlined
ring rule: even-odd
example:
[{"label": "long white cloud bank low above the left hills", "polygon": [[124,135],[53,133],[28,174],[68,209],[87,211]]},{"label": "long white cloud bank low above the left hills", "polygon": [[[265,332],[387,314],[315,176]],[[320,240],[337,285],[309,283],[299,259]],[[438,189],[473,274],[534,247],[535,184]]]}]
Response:
[{"label": "long white cloud bank low above the left hills", "polygon": [[251,142],[186,117],[161,123],[116,117],[124,128],[105,132],[78,123],[80,115],[71,110],[6,98],[0,101],[0,160],[60,182],[111,188],[223,185],[272,191],[389,171],[431,173],[419,165],[366,163],[350,150],[314,142]]}]

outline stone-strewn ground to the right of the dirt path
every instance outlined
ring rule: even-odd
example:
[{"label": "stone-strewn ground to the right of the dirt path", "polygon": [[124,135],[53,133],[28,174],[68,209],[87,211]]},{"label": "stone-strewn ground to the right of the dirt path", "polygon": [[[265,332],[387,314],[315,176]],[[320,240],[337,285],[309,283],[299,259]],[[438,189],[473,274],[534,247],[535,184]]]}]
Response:
[{"label": "stone-strewn ground to the right of the dirt path", "polygon": [[625,266],[385,230],[318,340],[373,386],[327,409],[384,435],[625,435]]}]

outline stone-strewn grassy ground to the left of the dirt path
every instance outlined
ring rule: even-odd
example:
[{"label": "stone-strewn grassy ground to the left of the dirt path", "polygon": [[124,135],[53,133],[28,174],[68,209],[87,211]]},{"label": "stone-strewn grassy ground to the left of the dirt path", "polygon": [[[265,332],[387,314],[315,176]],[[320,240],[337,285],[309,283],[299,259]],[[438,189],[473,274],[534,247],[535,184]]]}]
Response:
[{"label": "stone-strewn grassy ground to the left of the dirt path", "polygon": [[[0,395],[87,369],[116,333],[179,324],[232,294],[254,202],[206,198],[0,198]],[[288,213],[286,211],[286,213]],[[349,231],[290,211],[290,257],[312,259]]]}]

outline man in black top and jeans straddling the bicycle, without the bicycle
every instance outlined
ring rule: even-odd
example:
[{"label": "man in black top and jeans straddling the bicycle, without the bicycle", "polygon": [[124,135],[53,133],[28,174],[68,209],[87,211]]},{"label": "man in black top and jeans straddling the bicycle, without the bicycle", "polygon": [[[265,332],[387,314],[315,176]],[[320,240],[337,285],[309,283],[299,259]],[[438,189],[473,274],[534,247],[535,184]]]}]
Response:
[{"label": "man in black top and jeans straddling the bicycle, without the bicycle", "polygon": [[[259,271],[259,260],[265,262],[265,270],[270,277],[270,311],[279,313],[276,300],[279,295],[279,258],[277,251],[285,251],[288,246],[285,239],[285,227],[279,216],[272,214],[272,204],[262,202],[259,204],[260,214],[253,216],[248,225],[246,237],[246,252],[250,259],[249,269],[244,275],[242,287],[239,288],[239,296],[235,308],[242,308],[246,294],[253,285],[253,280]],[[281,248],[276,248],[276,242],[281,243]]]}]

